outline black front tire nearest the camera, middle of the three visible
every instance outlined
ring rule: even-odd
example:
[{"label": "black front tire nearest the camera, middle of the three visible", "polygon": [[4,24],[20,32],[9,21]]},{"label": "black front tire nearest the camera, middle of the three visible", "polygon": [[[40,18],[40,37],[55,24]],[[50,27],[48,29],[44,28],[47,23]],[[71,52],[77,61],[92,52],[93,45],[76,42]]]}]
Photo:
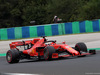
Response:
[{"label": "black front tire nearest the camera, middle of the three visible", "polygon": [[55,48],[53,46],[47,46],[44,49],[44,59],[45,60],[51,60],[53,53],[55,53]]}]

